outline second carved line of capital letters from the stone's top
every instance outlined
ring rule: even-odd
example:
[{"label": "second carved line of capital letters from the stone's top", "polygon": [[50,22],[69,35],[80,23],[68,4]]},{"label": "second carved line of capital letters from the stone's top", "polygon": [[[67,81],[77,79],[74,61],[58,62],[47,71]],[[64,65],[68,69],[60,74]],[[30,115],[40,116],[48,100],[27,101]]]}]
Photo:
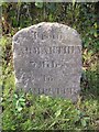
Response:
[{"label": "second carved line of capital letters from the stone's top", "polygon": [[80,46],[31,46],[22,50],[23,54],[74,54],[80,52]]}]

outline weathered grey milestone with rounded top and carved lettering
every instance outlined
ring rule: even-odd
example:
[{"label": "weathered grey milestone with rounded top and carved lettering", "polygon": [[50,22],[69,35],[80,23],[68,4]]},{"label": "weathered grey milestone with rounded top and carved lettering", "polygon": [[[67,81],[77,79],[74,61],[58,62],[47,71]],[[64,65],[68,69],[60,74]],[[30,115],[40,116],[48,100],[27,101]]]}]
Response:
[{"label": "weathered grey milestone with rounded top and carved lettering", "polygon": [[81,76],[81,40],[76,30],[42,22],[13,36],[15,85],[35,95],[77,99]]}]

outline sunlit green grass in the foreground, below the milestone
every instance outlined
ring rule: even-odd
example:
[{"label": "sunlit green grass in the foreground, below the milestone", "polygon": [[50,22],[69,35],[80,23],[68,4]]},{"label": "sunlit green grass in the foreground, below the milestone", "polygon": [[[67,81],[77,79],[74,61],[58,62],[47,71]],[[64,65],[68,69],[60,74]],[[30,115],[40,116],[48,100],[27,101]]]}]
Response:
[{"label": "sunlit green grass in the foreground, below the milestone", "polygon": [[33,94],[11,92],[4,97],[3,130],[95,130],[98,128],[98,100],[70,100]]}]

